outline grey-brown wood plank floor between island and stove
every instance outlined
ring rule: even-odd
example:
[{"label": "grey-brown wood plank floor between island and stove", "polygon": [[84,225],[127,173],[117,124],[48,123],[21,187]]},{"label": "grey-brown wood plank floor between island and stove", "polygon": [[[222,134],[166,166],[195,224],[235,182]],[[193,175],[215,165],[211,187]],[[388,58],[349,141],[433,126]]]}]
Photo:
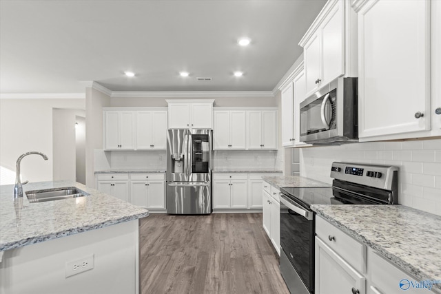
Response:
[{"label": "grey-brown wood plank floor between island and stove", "polygon": [[289,293],[262,213],[141,220],[141,293]]}]

